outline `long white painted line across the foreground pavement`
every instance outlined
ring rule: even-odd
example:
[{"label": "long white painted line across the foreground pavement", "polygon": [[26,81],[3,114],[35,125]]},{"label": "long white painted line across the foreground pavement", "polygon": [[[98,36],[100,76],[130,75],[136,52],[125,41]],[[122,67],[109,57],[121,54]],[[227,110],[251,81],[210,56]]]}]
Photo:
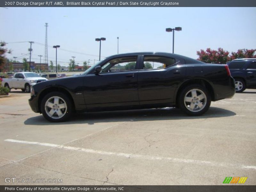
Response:
[{"label": "long white painted line across the foreground pavement", "polygon": [[256,166],[254,166],[254,165],[218,163],[218,162],[210,162],[210,161],[202,161],[202,160],[194,160],[194,159],[180,159],[180,158],[173,158],[173,157],[148,156],[148,155],[139,155],[139,154],[136,155],[136,154],[132,154],[132,153],[131,154],[116,153],[116,152],[109,152],[109,151],[99,151],[99,150],[94,150],[94,149],[78,148],[78,147],[64,146],[64,145],[58,145],[58,144],[52,144],[52,143],[41,143],[41,142],[24,141],[24,140],[6,139],[4,141],[21,143],[21,144],[48,146],[48,147],[53,147],[53,148],[61,148],[61,149],[66,149],[66,150],[79,151],[79,152],[92,153],[92,154],[121,156],[121,157],[126,157],[126,158],[136,158],[136,159],[144,159],[144,160],[168,161],[168,162],[173,162],[173,163],[198,164],[198,165],[209,165],[209,166],[232,167],[232,168],[256,170]]}]

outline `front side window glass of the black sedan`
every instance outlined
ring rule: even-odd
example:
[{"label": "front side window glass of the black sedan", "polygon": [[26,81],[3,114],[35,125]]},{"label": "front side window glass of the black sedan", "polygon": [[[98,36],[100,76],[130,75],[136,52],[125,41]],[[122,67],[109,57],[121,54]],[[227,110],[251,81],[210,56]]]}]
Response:
[{"label": "front side window glass of the black sedan", "polygon": [[101,67],[100,73],[122,72],[135,70],[136,57],[121,57],[108,61]]}]

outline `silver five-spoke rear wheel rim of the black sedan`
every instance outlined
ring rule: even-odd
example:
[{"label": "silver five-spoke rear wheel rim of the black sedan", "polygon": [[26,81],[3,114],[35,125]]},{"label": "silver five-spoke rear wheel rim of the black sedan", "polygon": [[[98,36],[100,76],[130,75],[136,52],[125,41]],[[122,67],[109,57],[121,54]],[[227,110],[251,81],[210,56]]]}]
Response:
[{"label": "silver five-spoke rear wheel rim of the black sedan", "polygon": [[189,111],[198,112],[206,106],[206,95],[202,90],[192,89],[184,97],[184,104]]}]

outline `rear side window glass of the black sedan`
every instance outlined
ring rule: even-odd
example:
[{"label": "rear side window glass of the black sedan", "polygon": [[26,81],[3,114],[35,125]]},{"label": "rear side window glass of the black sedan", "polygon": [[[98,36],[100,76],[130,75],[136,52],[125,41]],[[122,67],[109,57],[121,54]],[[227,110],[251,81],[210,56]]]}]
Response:
[{"label": "rear side window glass of the black sedan", "polygon": [[180,61],[160,56],[144,56],[143,69],[162,69],[178,64]]}]

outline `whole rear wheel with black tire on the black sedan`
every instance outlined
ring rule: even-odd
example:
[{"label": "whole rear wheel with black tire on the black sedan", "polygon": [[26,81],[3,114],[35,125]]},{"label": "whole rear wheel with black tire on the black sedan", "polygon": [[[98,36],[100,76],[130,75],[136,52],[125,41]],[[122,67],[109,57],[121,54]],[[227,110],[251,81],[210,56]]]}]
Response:
[{"label": "whole rear wheel with black tire on the black sedan", "polygon": [[179,107],[190,116],[204,114],[211,105],[211,96],[208,90],[199,84],[185,87],[179,95]]}]

